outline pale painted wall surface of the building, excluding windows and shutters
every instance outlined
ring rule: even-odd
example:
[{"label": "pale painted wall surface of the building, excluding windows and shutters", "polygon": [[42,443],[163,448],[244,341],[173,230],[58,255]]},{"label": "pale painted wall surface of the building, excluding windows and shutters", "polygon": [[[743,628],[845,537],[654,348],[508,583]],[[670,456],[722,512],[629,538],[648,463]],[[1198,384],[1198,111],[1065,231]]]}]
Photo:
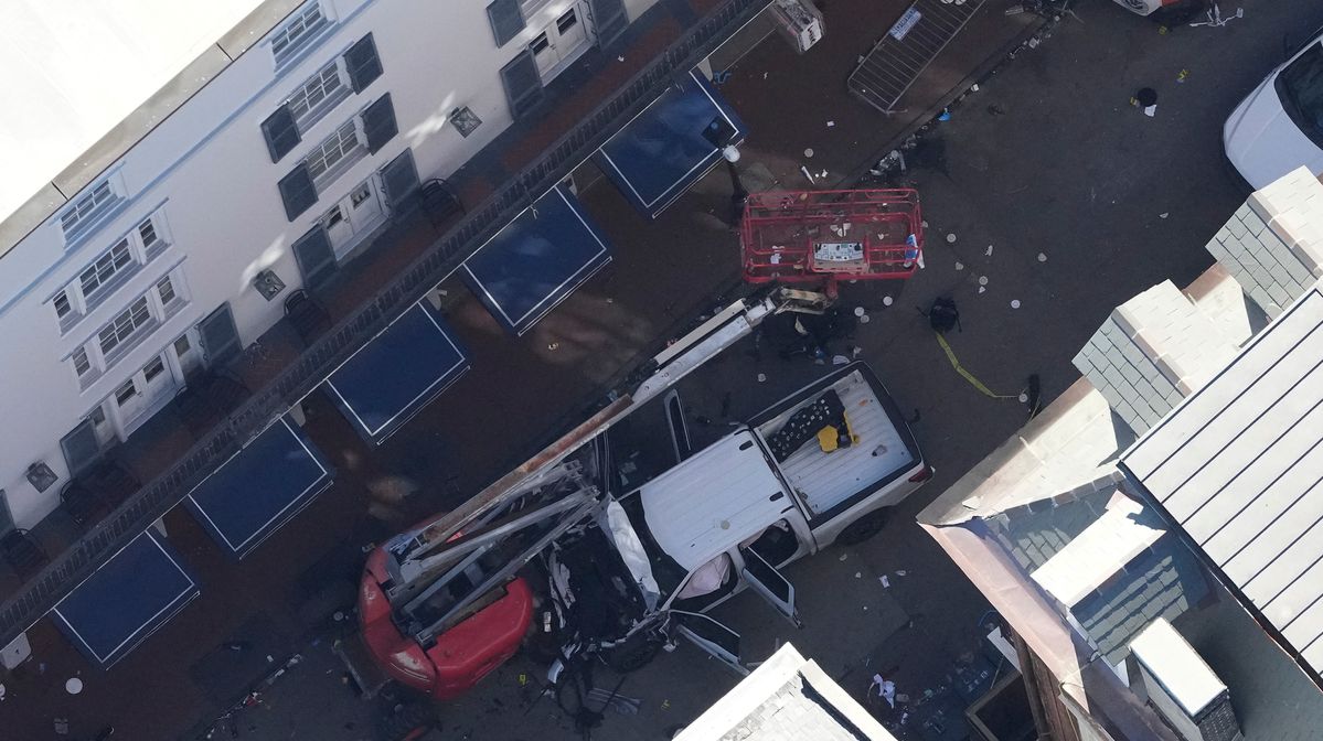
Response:
[{"label": "pale painted wall surface of the building, excluding windows and shutters", "polygon": [[[627,0],[630,19],[654,3]],[[500,69],[576,1],[523,4],[532,9],[525,29],[497,48],[484,1],[323,0],[324,12],[335,21],[302,57],[277,70],[270,38],[253,45],[107,171],[112,187],[124,196],[114,216],[66,245],[57,213],[3,258],[0,336],[7,351],[0,353],[0,374],[7,382],[0,388],[0,409],[8,423],[0,431],[0,488],[19,527],[32,527],[58,504],[60,488],[67,482],[60,438],[98,408],[107,414],[103,433],[122,437],[112,401],[116,388],[163,352],[169,373],[179,377],[184,369],[168,348],[184,335],[196,348],[191,332],[198,320],[229,302],[247,344],[282,316],[283,299],[303,281],[290,246],[332,204],[406,148],[411,148],[423,180],[443,177],[509,126]],[[578,3],[586,20],[585,5]],[[382,74],[331,109],[302,132],[292,151],[273,163],[262,122],[369,32]],[[291,222],[278,181],[325,136],[386,93],[400,132],[378,152],[319,187],[318,202]],[[483,120],[468,138],[448,123],[456,106],[468,106]],[[65,320],[62,327],[53,306],[58,291],[79,283],[99,254],[122,236],[134,234],[147,218],[169,246],[123,284],[103,290],[106,298],[85,316]],[[270,302],[251,284],[262,270],[273,270],[288,286]],[[79,380],[75,349],[89,343],[99,347],[98,331],[167,274],[183,303],[168,316],[160,312],[160,326],[144,332],[99,377]],[[153,304],[153,311],[159,308]],[[38,494],[24,476],[34,462],[45,462],[60,476],[45,492]]]}]

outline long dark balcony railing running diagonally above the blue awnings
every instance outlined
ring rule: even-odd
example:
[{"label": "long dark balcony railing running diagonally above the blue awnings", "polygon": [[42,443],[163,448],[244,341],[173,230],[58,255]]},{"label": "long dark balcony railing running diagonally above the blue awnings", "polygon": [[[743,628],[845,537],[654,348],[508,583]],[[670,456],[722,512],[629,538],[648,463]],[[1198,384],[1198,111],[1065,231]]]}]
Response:
[{"label": "long dark balcony railing running diagonally above the blue awnings", "polygon": [[689,26],[615,95],[441,237],[376,296],[340,322],[238,410],[212,429],[168,471],[54,558],[0,606],[0,646],[41,619],[74,586],[172,509],[220,463],[312,393],[329,373],[452,273],[538,196],[564,180],[646,105],[660,97],[770,0],[728,0]]}]

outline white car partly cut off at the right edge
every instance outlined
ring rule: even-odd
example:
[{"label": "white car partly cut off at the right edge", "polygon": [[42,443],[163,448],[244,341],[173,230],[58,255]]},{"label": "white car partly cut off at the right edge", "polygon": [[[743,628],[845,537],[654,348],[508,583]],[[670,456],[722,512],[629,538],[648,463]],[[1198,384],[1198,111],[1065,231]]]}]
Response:
[{"label": "white car partly cut off at the right edge", "polygon": [[1323,173],[1323,36],[1236,106],[1222,127],[1222,146],[1256,191],[1302,165]]}]

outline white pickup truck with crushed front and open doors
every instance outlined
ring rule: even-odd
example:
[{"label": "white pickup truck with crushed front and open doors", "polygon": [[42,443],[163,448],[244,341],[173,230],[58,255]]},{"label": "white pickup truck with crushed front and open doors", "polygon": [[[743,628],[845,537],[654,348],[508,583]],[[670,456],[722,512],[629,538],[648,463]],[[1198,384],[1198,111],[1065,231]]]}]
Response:
[{"label": "white pickup truck with crushed front and open doors", "polygon": [[[749,588],[799,625],[779,568],[881,529],[885,508],[931,476],[873,372],[853,363],[697,451],[669,406],[672,467],[634,487],[603,441],[609,504],[546,556],[564,644],[628,671],[684,636],[736,671],[740,635],[703,614]],[[824,430],[826,431],[822,431]],[[606,450],[601,450],[606,449]],[[622,482],[623,486],[622,486]]]}]

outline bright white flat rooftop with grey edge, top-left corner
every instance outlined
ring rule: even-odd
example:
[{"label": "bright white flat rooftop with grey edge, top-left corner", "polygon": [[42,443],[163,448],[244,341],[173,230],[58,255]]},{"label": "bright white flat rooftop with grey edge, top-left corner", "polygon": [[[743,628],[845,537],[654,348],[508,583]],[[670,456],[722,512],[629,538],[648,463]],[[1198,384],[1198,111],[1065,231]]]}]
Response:
[{"label": "bright white flat rooftop with grey edge, top-left corner", "polygon": [[[7,172],[0,181],[0,255],[229,65],[258,26],[265,34],[294,5],[7,3],[0,64],[8,83],[0,106],[22,115],[0,123]],[[234,33],[246,24],[253,33]]]}]

